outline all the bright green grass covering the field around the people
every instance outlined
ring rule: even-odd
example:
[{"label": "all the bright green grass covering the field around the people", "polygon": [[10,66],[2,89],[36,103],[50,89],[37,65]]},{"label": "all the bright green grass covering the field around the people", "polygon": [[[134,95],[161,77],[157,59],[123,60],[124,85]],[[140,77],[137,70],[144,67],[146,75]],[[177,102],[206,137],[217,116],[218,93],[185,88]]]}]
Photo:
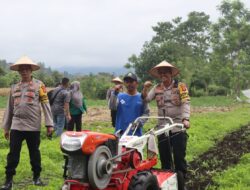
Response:
[{"label": "all the bright green grass covering the field around the people", "polygon": [[[218,97],[216,97],[218,98]],[[226,98],[220,99],[217,101],[216,98],[192,98],[194,106],[230,106],[230,102],[233,100],[226,100]],[[5,101],[5,102],[4,102]],[[88,100],[87,100],[88,101]],[[4,104],[2,104],[4,102]],[[203,104],[202,104],[203,102]],[[213,102],[218,102],[213,104]],[[224,103],[222,103],[224,102]],[[90,101],[89,106],[103,106],[106,105],[106,101]],[[5,105],[6,99],[0,97],[0,105]],[[5,107],[5,106],[4,106]],[[250,106],[248,104],[243,104],[242,106],[234,106],[230,112],[219,112],[219,113],[195,113],[191,117],[191,128],[188,130],[189,140],[188,140],[188,149],[187,149],[187,159],[189,161],[195,159],[198,155],[208,150],[210,147],[215,145],[215,142],[219,139],[222,139],[227,133],[237,130],[241,125],[246,125],[250,122],[249,119]],[[91,124],[84,123],[85,129],[90,129],[93,131],[99,131],[104,133],[113,133],[114,129],[109,127],[110,122],[94,122]],[[150,125],[147,125],[145,130],[154,126],[152,122]],[[37,188],[31,185],[32,172],[29,164],[28,150],[26,143],[23,143],[21,160],[17,167],[17,175],[14,177],[14,182],[18,189],[25,190],[55,190],[60,189],[63,184],[62,178],[62,165],[64,163],[63,155],[60,151],[59,138],[54,138],[52,141],[48,140],[45,137],[45,127],[42,128],[41,135],[41,154],[42,154],[42,167],[43,171],[41,177],[48,182],[48,186]],[[2,130],[0,132],[0,184],[4,182],[4,172],[6,165],[6,155],[8,153],[8,142],[3,139]],[[245,161],[244,161],[245,160]],[[243,156],[243,164],[237,165],[235,168],[237,171],[241,171],[240,175],[235,175],[235,181],[240,181],[239,186],[234,186],[237,189],[238,187],[245,187],[249,185],[246,176],[249,174],[249,166],[246,170],[244,169],[244,163],[249,163],[249,156],[246,158]],[[226,184],[227,182],[224,178],[227,177],[227,172],[222,175],[222,177],[216,177],[215,180],[218,183]],[[242,178],[241,176],[245,177]],[[225,176],[225,177],[223,177]],[[244,179],[244,180],[243,180]],[[249,180],[248,180],[249,181]],[[225,188],[224,188],[225,186]],[[226,189],[227,186],[223,185],[222,188]],[[15,188],[17,189],[17,188]],[[239,188],[238,188],[239,189]],[[244,189],[244,188],[243,188]]]}]

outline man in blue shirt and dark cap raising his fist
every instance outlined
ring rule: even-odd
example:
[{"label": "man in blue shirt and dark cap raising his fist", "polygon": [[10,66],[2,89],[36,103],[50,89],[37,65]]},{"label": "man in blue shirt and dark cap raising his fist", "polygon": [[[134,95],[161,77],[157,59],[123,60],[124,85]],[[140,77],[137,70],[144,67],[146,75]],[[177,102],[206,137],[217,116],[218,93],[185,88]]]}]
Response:
[{"label": "man in blue shirt and dark cap raising his fist", "polygon": [[[137,91],[137,76],[129,72],[123,81],[127,92],[121,93],[120,86],[116,85],[110,97],[111,106],[117,108],[115,131],[121,130],[121,134],[137,117],[149,115],[148,104],[142,100],[141,93]],[[141,120],[139,125],[142,127],[144,122]],[[136,130],[135,135],[142,135],[141,127]]]}]

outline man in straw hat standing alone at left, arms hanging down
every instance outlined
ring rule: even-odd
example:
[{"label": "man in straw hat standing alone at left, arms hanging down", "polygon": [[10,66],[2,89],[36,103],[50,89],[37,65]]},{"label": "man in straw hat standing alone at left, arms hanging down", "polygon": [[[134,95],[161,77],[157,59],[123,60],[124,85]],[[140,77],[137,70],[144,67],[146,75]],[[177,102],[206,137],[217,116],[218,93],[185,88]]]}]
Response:
[{"label": "man in straw hat standing alone at left, arms hanging down", "polygon": [[13,176],[19,163],[22,141],[26,140],[30,164],[33,171],[33,184],[43,186],[40,179],[41,154],[40,130],[41,130],[41,107],[44,112],[47,135],[53,131],[53,120],[49,106],[45,85],[32,78],[32,71],[40,68],[29,57],[21,57],[15,64],[10,66],[13,71],[18,71],[21,81],[11,86],[10,96],[3,119],[4,136],[10,141],[10,151],[7,156],[5,174],[6,181],[1,190],[12,188]]}]

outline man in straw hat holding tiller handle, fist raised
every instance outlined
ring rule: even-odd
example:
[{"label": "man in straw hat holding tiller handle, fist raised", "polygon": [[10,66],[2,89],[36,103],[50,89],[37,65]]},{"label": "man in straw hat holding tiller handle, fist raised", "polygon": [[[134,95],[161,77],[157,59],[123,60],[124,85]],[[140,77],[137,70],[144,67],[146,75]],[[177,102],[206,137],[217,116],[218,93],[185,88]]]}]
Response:
[{"label": "man in straw hat holding tiller handle, fist raised", "polygon": [[[172,148],[175,170],[179,174],[178,177],[181,178],[179,181],[184,181],[183,177],[187,172],[187,162],[185,160],[186,129],[190,127],[190,97],[188,89],[184,83],[173,79],[173,77],[179,74],[179,70],[166,61],[162,61],[153,67],[149,73],[153,77],[160,79],[161,83],[149,91],[152,83],[150,81],[145,82],[142,91],[143,98],[146,102],[155,99],[159,116],[171,117],[174,122],[183,123],[185,127],[184,131],[175,128],[170,132],[170,137],[162,135],[158,139],[162,169],[171,169],[172,156],[170,148]],[[159,120],[159,127],[164,123],[164,119]],[[179,184],[179,189],[184,189],[184,184]]]}]

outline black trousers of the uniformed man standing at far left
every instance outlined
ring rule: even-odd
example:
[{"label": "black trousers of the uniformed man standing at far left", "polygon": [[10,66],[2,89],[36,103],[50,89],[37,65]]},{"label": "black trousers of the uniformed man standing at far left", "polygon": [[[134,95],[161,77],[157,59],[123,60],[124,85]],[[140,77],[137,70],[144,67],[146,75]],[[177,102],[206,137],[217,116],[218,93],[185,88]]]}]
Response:
[{"label": "black trousers of the uniformed man standing at far left", "polygon": [[40,145],[40,131],[10,131],[10,151],[7,155],[7,166],[5,174],[7,179],[12,179],[16,174],[16,167],[20,160],[20,152],[22,148],[22,142],[26,140],[30,164],[32,166],[33,177],[39,177],[42,171],[41,168],[41,154],[39,150]]}]

